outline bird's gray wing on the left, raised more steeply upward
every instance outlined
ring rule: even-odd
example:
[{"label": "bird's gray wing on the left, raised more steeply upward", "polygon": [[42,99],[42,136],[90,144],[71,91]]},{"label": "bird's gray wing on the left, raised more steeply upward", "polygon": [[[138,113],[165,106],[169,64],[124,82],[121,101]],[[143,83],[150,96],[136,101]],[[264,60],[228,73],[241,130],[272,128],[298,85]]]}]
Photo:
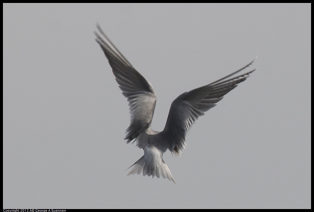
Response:
[{"label": "bird's gray wing on the left, raised more steeply upward", "polygon": [[137,138],[141,131],[150,127],[156,105],[156,94],[153,86],[125,59],[99,25],[97,28],[102,37],[95,32],[96,42],[104,51],[122,94],[129,102],[131,123],[127,128],[125,139],[130,142]]}]

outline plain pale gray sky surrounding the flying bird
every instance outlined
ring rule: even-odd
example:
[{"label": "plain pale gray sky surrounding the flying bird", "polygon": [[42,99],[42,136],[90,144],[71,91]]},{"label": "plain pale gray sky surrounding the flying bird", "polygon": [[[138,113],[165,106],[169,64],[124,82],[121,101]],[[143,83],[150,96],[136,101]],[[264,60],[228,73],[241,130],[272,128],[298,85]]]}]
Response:
[{"label": "plain pale gray sky surrounding the flying bird", "polygon": [[[95,42],[171,102],[258,70],[193,125],[177,182],[126,176],[126,98]],[[311,4],[3,4],[3,208],[311,208]]]}]

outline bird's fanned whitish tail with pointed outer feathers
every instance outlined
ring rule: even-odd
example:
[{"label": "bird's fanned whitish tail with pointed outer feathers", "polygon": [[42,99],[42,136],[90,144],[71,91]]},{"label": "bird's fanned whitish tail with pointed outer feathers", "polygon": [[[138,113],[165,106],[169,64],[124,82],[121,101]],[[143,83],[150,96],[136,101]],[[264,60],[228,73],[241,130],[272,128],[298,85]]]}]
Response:
[{"label": "bird's fanned whitish tail with pointed outer feathers", "polygon": [[[164,159],[161,159],[161,163],[159,165],[152,165],[151,163],[147,163],[147,161],[145,161],[144,156],[145,155],[143,155],[140,159],[138,159],[138,161],[136,161],[132,165],[133,168],[130,170],[127,176],[134,174],[139,175],[143,172],[143,176],[156,176],[157,178],[162,176],[165,179],[168,178],[170,181],[172,180],[176,184],[176,181],[173,179],[173,176],[171,175],[168,166],[165,164]],[[132,166],[130,166],[129,168],[131,168]]]}]

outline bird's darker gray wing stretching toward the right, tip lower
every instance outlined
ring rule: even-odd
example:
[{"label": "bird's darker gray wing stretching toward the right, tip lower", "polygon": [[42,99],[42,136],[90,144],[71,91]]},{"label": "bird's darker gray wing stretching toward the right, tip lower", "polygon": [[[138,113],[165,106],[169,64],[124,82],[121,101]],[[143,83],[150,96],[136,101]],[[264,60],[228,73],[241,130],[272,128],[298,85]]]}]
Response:
[{"label": "bird's darker gray wing stretching toward the right, tip lower", "polygon": [[165,128],[162,131],[164,145],[168,146],[171,152],[181,155],[186,146],[186,133],[192,124],[256,70],[234,77],[236,73],[250,66],[254,60],[240,70],[211,84],[182,93],[172,102]]}]

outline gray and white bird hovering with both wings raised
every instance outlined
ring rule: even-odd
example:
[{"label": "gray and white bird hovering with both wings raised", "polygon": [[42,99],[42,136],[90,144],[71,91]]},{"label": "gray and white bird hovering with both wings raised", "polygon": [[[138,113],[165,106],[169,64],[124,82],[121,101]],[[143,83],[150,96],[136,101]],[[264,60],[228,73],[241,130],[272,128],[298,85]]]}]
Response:
[{"label": "gray and white bird hovering with both wings raised", "polygon": [[179,95],[171,103],[164,130],[159,132],[151,129],[156,105],[156,93],[153,86],[113,45],[100,25],[96,26],[100,34],[94,32],[95,40],[108,59],[123,96],[129,102],[131,121],[124,139],[127,143],[136,141],[137,147],[144,150],[144,155],[129,167],[131,170],[127,176],[141,173],[143,176],[157,178],[162,176],[176,184],[162,158],[163,154],[169,150],[176,156],[181,156],[186,147],[186,135],[191,126],[199,116],[216,106],[225,94],[236,88],[256,70],[238,74],[249,67],[256,58],[243,68],[219,80]]}]

